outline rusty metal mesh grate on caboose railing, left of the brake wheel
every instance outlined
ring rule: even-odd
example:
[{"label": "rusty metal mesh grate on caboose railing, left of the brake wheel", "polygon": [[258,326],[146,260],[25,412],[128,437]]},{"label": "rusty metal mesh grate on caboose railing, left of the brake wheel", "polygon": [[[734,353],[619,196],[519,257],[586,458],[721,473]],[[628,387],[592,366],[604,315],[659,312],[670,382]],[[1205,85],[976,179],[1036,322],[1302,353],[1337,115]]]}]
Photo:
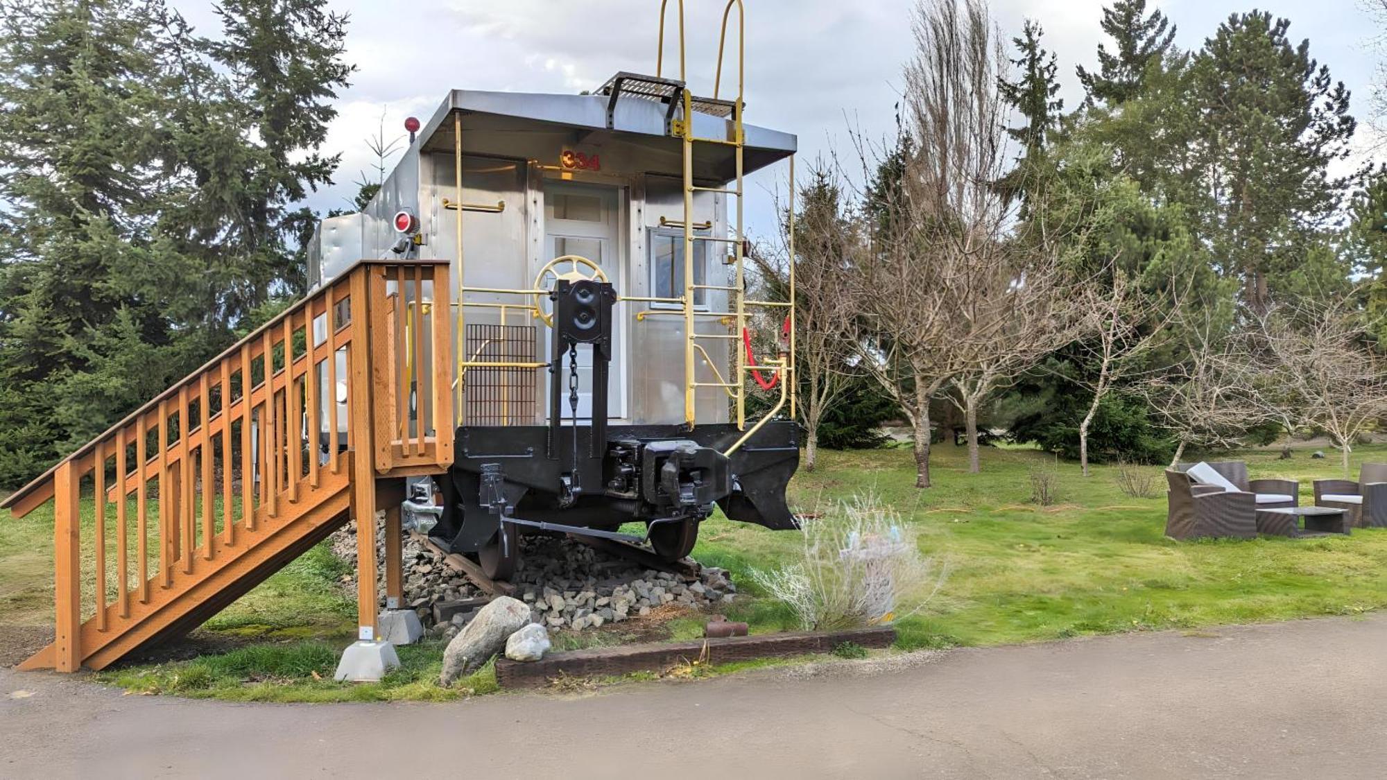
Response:
[{"label": "rusty metal mesh grate on caboose railing, left of the brake wheel", "polygon": [[[472,362],[535,362],[533,325],[467,325]],[[534,368],[473,365],[463,386],[465,425],[534,425]]]}]

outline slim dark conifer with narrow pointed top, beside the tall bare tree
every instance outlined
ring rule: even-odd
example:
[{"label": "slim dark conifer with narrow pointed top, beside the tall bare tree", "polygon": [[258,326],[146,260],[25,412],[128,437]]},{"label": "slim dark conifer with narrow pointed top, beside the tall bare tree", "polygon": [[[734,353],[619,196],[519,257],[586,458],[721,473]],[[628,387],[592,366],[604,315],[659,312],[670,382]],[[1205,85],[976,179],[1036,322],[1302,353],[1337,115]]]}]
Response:
[{"label": "slim dark conifer with narrow pointed top, beside the tall bare tree", "polygon": [[1021,218],[1025,219],[1031,205],[1031,190],[1043,179],[1043,157],[1046,140],[1058,128],[1064,112],[1064,100],[1057,97],[1060,82],[1056,79],[1058,65],[1056,56],[1040,46],[1044,31],[1035,19],[1026,19],[1021,37],[1011,43],[1019,56],[1011,60],[1019,71],[1017,80],[1001,79],[1001,97],[1025,122],[1019,128],[1008,128],[1007,133],[1021,144],[1017,167],[1007,173],[1001,187],[1021,197]]}]

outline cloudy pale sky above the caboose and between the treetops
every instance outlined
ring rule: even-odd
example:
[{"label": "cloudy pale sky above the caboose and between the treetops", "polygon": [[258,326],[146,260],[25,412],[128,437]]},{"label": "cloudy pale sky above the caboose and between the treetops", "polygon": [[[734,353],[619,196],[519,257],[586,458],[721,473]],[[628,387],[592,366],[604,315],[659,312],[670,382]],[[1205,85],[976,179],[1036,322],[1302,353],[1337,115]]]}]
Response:
[{"label": "cloudy pale sky above the caboose and between the treetops", "polygon": [[[1354,93],[1362,115],[1377,56],[1365,0],[1164,0],[1153,3],[1178,25],[1176,43],[1196,49],[1234,11],[1252,7],[1291,19],[1293,39],[1308,37],[1311,56]],[[1058,54],[1067,107],[1082,93],[1075,65],[1096,62],[1104,0],[993,0],[1004,33],[1026,17],[1044,25]],[[207,0],[176,0],[204,32],[215,32]],[[354,179],[370,169],[366,139],[384,114],[387,137],[405,117],[427,118],[451,87],[577,93],[616,71],[653,72],[656,0],[331,0],[351,14],[347,58],[358,67],[341,94],[327,151],[343,154],[334,186],[311,205],[343,207]],[[671,3],[670,6],[674,6]],[[721,3],[689,0],[691,86],[712,93]],[[800,160],[832,149],[852,155],[849,128],[885,135],[910,56],[911,0],[746,0],[748,122],[793,132]],[[671,21],[673,25],[673,21]],[[756,178],[750,230],[771,229],[770,192],[784,171]]]}]

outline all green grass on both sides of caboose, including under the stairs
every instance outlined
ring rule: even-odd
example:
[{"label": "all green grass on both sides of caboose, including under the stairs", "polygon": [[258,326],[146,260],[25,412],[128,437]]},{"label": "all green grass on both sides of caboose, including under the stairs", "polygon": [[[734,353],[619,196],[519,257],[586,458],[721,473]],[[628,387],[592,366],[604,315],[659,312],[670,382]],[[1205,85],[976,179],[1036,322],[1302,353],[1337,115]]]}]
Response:
[{"label": "all green grass on both sides of caboose, including under the stairs", "polygon": [[[1280,461],[1250,451],[1254,477],[1311,480],[1341,476],[1334,452],[1315,461],[1308,450]],[[1363,459],[1387,459],[1387,447],[1363,447]],[[1043,641],[1133,630],[1197,629],[1222,623],[1354,615],[1387,605],[1387,532],[1355,529],[1350,537],[1182,543],[1164,537],[1165,482],[1147,466],[1155,497],[1133,498],[1117,484],[1118,469],[1096,466],[1083,477],[1074,464],[1024,448],[985,448],[983,470],[967,473],[963,448],[935,450],[935,487],[915,490],[908,448],[820,455],[818,469],[792,484],[799,511],[827,511],[841,498],[874,491],[920,532],[922,551],[947,568],[939,594],[899,623],[903,650]],[[1058,502],[1031,502],[1032,469],[1054,469]],[[793,533],[774,533],[724,519],[705,523],[695,557],[734,573],[742,593],[725,612],[753,631],[795,629],[792,615],[756,593],[752,568],[773,568],[796,548]],[[0,514],[0,625],[51,620],[51,509],[12,519]],[[223,655],[107,673],[132,690],[222,698],[393,700],[449,698],[494,688],[490,670],[459,690],[442,691],[441,647],[402,651],[404,668],[369,686],[329,677],[352,630],[352,605],[334,587],[340,562],[315,548],[223,611],[201,633],[255,640]],[[698,636],[700,618],[664,626],[670,638]],[[623,641],[628,623],[610,631],[563,637],[560,647]],[[316,677],[315,677],[316,675]],[[293,684],[288,684],[293,683]]]}]

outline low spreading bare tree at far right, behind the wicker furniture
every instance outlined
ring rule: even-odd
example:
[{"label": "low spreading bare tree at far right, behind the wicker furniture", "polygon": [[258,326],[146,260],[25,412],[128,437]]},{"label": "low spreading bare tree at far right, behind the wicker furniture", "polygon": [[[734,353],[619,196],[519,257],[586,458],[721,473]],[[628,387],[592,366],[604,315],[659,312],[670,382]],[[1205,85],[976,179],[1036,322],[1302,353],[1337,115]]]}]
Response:
[{"label": "low spreading bare tree at far right, behind the wicker furniture", "polygon": [[1258,322],[1268,384],[1286,390],[1269,414],[1329,433],[1345,477],[1354,441],[1387,415],[1387,359],[1351,301],[1273,307]]}]

